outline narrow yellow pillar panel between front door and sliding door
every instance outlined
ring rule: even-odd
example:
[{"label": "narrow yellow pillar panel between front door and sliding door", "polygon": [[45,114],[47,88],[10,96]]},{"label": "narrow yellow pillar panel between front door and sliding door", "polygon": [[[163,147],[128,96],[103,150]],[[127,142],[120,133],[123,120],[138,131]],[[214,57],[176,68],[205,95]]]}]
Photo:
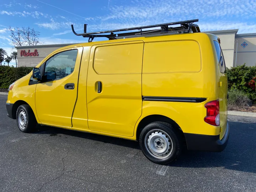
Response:
[{"label": "narrow yellow pillar panel between front door and sliding door", "polygon": [[90,50],[91,47],[84,47],[83,50],[78,79],[78,96],[72,116],[72,127],[79,129],[89,129],[87,123],[86,81]]}]

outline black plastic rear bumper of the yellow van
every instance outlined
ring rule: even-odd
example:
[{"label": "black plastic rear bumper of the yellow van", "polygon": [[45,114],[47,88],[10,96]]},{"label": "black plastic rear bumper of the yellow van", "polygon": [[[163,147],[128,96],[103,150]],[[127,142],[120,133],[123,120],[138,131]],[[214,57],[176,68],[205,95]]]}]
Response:
[{"label": "black plastic rear bumper of the yellow van", "polygon": [[219,139],[219,135],[201,135],[184,133],[187,149],[188,150],[200,150],[200,151],[223,151],[228,143],[229,139],[229,122],[227,121],[226,132],[222,140]]}]

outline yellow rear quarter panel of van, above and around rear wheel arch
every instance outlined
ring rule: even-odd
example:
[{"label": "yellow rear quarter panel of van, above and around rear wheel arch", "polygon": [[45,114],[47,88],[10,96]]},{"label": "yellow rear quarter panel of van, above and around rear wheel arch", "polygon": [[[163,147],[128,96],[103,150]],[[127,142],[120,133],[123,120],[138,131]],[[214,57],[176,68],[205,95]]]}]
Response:
[{"label": "yellow rear quarter panel of van, above and around rear wheel arch", "polygon": [[[143,101],[142,118],[162,113],[184,133],[220,134],[218,126],[204,122],[205,103],[217,100],[219,95],[214,56],[210,39],[204,33],[148,38],[144,45],[142,95],[154,96],[156,100]],[[183,102],[157,100],[159,97],[180,98]],[[205,101],[184,101],[184,97]]]}]

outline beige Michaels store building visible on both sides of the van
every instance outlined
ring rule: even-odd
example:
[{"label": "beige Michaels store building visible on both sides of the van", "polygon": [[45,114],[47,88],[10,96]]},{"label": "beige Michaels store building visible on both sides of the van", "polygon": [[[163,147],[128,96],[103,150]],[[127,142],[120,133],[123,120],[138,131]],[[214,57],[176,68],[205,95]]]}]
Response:
[{"label": "beige Michaels store building visible on both sides of the van", "polygon": [[[246,64],[256,64],[256,33],[237,34],[238,29],[206,31],[220,38],[220,46],[223,51],[226,67],[234,67]],[[16,47],[18,54],[18,66],[36,66],[54,50],[71,44],[53,44],[38,46]]]}]

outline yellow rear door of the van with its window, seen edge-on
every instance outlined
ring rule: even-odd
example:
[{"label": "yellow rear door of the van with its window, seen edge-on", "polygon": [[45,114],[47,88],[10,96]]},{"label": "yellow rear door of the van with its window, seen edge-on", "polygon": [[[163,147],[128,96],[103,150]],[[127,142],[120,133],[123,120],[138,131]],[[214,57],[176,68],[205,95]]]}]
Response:
[{"label": "yellow rear door of the van with its window, seen edge-on", "polygon": [[226,75],[225,60],[220,48],[220,44],[214,41],[214,46],[218,56],[218,76],[219,76],[219,113],[220,113],[220,139],[226,132],[227,123],[227,96],[228,96],[228,78]]}]

